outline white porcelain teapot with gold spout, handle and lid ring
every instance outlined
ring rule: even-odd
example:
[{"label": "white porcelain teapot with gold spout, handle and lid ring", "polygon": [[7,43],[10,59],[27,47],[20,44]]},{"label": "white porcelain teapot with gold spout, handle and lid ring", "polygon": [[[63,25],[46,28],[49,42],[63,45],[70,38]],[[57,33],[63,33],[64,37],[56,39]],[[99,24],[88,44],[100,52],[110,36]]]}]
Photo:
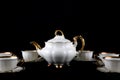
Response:
[{"label": "white porcelain teapot with gold spout, handle and lid ring", "polygon": [[[61,35],[58,35],[58,32]],[[35,41],[32,41],[31,44],[36,47],[38,54],[48,62],[48,66],[54,64],[56,68],[62,68],[63,64],[69,65],[70,61],[77,55],[78,38],[81,40],[82,50],[85,44],[82,36],[73,37],[74,41],[71,42],[65,38],[61,30],[56,30],[55,37],[45,42],[45,47],[43,48]]]}]

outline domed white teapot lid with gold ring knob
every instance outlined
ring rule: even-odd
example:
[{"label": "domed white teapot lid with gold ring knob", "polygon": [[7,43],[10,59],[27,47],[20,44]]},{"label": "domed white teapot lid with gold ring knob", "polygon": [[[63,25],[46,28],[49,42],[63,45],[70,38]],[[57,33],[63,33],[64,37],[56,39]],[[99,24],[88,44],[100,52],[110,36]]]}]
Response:
[{"label": "domed white teapot lid with gold ring knob", "polygon": [[[61,32],[62,35],[58,35],[57,34],[58,31]],[[64,34],[61,30],[56,30],[55,31],[55,37],[48,40],[47,42],[71,42],[71,41],[64,37]]]}]

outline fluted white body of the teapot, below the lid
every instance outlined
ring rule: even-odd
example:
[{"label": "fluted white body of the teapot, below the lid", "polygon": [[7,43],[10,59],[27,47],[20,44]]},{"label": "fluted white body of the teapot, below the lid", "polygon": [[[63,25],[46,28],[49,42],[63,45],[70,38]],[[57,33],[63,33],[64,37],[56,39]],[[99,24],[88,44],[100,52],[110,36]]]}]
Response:
[{"label": "fluted white body of the teapot, below the lid", "polygon": [[62,65],[69,62],[76,56],[76,47],[72,42],[66,43],[45,43],[45,47],[38,50],[38,54],[43,57],[48,64]]}]

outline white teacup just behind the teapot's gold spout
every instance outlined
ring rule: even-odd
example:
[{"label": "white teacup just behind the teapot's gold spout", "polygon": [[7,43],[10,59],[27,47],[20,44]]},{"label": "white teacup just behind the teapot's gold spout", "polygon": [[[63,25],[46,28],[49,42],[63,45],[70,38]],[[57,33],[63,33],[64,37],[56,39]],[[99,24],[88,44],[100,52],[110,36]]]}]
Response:
[{"label": "white teacup just behind the teapot's gold spout", "polygon": [[30,62],[38,59],[38,53],[36,50],[24,50],[22,51],[22,57],[25,62]]}]

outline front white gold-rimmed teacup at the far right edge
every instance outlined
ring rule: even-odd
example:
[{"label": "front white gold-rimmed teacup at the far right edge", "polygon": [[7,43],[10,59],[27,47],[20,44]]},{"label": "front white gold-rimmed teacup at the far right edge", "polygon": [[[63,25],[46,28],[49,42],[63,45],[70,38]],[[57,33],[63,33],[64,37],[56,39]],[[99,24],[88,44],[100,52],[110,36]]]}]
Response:
[{"label": "front white gold-rimmed teacup at the far right edge", "polygon": [[107,57],[104,57],[102,60],[103,60],[103,63],[105,64],[105,67],[110,72],[120,73],[120,57],[107,56]]}]

